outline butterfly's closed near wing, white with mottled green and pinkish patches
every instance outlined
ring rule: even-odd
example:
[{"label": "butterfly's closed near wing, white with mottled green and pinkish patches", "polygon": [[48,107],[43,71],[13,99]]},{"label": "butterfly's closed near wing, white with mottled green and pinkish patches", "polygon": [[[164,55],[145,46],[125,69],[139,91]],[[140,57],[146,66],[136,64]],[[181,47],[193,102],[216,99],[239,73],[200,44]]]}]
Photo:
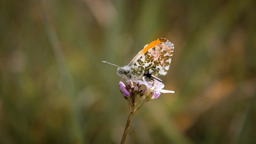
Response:
[{"label": "butterfly's closed near wing, white with mottled green and pinkish patches", "polygon": [[[159,40],[159,39],[157,39]],[[157,41],[156,40],[156,41]],[[161,42],[164,41],[164,42]],[[136,78],[141,78],[144,73],[151,73],[152,75],[166,75],[173,56],[174,45],[165,38],[160,39],[161,43],[151,47],[144,47],[134,59],[131,64],[131,74]],[[147,48],[147,49],[145,49]],[[140,55],[139,55],[140,54]],[[138,56],[139,55],[139,56]]]}]

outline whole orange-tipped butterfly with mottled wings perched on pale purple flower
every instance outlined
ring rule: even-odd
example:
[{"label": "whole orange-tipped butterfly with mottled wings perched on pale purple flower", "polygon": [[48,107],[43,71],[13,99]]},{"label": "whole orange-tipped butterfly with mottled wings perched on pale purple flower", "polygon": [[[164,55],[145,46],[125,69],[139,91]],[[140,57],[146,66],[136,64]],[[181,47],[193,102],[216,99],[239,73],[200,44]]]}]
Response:
[{"label": "whole orange-tipped butterfly with mottled wings perched on pale purple flower", "polygon": [[127,66],[119,67],[106,61],[102,62],[119,67],[117,68],[117,75],[126,80],[140,80],[143,76],[151,78],[166,75],[170,68],[173,51],[173,43],[166,38],[159,38],[146,44]]}]

